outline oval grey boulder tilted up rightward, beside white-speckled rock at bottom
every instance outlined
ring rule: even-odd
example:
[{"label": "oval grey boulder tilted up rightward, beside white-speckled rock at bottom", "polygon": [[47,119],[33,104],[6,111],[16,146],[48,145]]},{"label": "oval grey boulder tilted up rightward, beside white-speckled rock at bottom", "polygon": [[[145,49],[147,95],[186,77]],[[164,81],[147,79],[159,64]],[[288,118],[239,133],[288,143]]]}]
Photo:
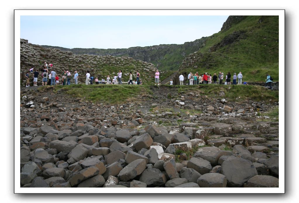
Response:
[{"label": "oval grey boulder tilted up rightward, beside white-speckled rock at bottom", "polygon": [[144,159],[137,159],[129,163],[118,174],[118,177],[122,181],[128,181],[136,176],[140,175],[146,168],[146,162]]}]

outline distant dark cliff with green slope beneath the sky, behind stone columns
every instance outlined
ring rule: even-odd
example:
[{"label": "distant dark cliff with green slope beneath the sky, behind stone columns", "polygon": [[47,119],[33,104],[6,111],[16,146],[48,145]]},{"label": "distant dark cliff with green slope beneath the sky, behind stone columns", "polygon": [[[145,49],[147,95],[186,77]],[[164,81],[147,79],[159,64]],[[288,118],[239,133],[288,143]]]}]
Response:
[{"label": "distant dark cliff with green slope beneath the sky, behind stone columns", "polygon": [[63,51],[71,51],[74,54],[88,54],[98,56],[129,56],[140,61],[147,61],[158,67],[159,70],[177,70],[181,61],[190,53],[199,50],[205,43],[205,37],[184,44],[160,44],[148,47],[130,47],[128,49],[83,49],[83,48],[63,48],[41,45],[45,48],[58,48]]}]

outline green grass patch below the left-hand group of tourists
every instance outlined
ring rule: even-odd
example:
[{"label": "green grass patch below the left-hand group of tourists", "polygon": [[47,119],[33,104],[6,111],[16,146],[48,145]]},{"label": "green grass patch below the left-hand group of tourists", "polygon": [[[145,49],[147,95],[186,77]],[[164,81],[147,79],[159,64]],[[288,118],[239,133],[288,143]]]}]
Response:
[{"label": "green grass patch below the left-hand group of tourists", "polygon": [[54,92],[63,91],[72,97],[79,97],[91,102],[121,104],[142,100],[152,94],[146,85],[58,85]]}]

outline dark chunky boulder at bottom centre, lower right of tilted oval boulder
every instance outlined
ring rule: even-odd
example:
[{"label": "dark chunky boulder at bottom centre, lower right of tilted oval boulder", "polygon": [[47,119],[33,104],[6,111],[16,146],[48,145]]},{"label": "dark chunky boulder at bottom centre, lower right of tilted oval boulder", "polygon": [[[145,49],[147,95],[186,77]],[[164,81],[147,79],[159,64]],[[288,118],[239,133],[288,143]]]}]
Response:
[{"label": "dark chunky boulder at bottom centre, lower right of tilted oval boulder", "polygon": [[148,168],[141,174],[139,181],[148,187],[163,186],[167,182],[166,176],[159,169]]}]

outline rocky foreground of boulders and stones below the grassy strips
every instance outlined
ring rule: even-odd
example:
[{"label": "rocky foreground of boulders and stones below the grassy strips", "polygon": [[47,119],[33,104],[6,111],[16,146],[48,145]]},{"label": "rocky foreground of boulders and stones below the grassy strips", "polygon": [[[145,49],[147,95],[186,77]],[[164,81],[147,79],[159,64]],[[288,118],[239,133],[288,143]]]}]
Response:
[{"label": "rocky foreground of boulders and stones below the grassy strips", "polygon": [[277,103],[151,87],[109,105],[21,87],[21,187],[278,187]]}]

